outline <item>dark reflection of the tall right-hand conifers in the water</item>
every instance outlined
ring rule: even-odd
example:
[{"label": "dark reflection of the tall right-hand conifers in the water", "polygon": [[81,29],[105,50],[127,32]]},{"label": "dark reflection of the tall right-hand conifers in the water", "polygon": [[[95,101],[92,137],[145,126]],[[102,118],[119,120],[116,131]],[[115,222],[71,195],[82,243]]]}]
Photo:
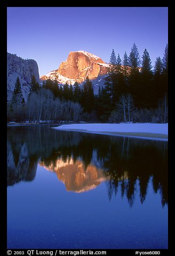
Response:
[{"label": "dark reflection of the tall right-hand conifers in the water", "polygon": [[[129,138],[127,140],[129,141]],[[131,138],[130,141],[132,141]],[[124,143],[126,144],[125,151],[127,154],[123,153]],[[131,142],[131,150],[128,155],[128,143],[126,143],[126,139],[124,138],[123,144],[121,144],[121,154],[117,147],[112,147],[111,158],[105,162],[104,169],[106,170],[106,176],[110,176],[109,198],[111,198],[113,191],[116,194],[118,186],[120,186],[121,195],[124,196],[125,194],[128,198],[128,202],[130,202],[132,206],[136,183],[139,181],[140,200],[141,203],[143,203],[147,195],[150,177],[153,177],[155,193],[157,193],[158,190],[160,191],[162,195],[162,205],[168,203],[168,156],[167,150],[165,150],[165,142],[156,141],[153,143],[153,141],[138,140],[137,145],[134,144],[135,143]],[[118,155],[120,155],[119,158]],[[113,156],[115,157],[112,159]],[[117,161],[117,172],[115,165],[113,165],[115,161]],[[123,178],[124,169],[127,172],[126,179]]]}]

